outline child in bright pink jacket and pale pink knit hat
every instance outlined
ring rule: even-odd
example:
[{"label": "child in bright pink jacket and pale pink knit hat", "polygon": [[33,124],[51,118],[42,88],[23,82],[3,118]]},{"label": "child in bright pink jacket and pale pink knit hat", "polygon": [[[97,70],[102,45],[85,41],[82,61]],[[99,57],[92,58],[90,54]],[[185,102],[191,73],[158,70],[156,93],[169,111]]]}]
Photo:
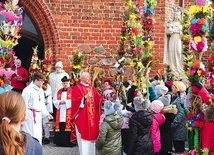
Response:
[{"label": "child in bright pink jacket and pale pink knit hat", "polygon": [[159,154],[161,149],[160,129],[159,126],[165,121],[164,114],[161,113],[164,104],[160,100],[152,101],[149,110],[153,113],[153,121],[151,125],[151,136],[154,144],[155,155]]}]

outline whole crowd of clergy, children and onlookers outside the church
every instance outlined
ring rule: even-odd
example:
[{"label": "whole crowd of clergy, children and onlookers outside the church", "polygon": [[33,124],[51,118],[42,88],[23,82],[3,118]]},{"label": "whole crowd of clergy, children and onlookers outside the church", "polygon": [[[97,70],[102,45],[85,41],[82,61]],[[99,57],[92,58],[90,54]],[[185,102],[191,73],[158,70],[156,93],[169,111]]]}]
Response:
[{"label": "whole crowd of clergy, children and onlookers outside the church", "polygon": [[[20,67],[20,60],[17,63]],[[186,154],[199,148],[208,149],[210,154],[214,151],[214,123],[203,118],[206,110],[197,111],[192,106],[196,99],[201,99],[201,105],[206,107],[210,104],[209,92],[199,82],[192,84],[192,91],[198,91],[197,98],[192,99],[187,79],[165,83],[153,79],[148,92],[128,80],[124,81],[124,96],[118,96],[113,81],[104,80],[100,93],[85,71],[79,83],[71,87],[61,61],[56,63],[46,87],[41,72],[23,86],[28,74],[19,67],[12,85],[20,84],[15,84],[13,91],[0,94],[0,154],[42,154],[41,145],[50,143],[50,120],[55,122],[53,143],[77,145],[80,155],[95,155],[97,151],[100,155]],[[193,144],[195,140],[190,135],[196,135],[194,128],[199,125],[195,121],[190,128],[190,114],[200,119],[198,145]]]}]

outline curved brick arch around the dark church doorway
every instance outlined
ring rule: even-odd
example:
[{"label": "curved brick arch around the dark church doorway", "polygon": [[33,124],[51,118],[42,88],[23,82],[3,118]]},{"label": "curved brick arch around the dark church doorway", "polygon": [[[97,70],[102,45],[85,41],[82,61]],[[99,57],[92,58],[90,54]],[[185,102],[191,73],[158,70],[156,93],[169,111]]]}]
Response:
[{"label": "curved brick arch around the dark church doorway", "polygon": [[41,32],[44,50],[50,48],[53,59],[56,60],[59,51],[59,35],[47,5],[40,0],[20,0],[19,6],[23,6],[32,17]]}]

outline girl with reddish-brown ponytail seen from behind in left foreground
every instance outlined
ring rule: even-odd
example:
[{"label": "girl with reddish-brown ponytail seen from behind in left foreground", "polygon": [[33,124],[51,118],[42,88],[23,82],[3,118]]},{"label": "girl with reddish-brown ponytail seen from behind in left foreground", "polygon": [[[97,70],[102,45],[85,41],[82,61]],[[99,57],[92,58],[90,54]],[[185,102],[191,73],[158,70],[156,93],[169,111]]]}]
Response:
[{"label": "girl with reddish-brown ponytail seen from behind in left foreground", "polygon": [[20,94],[0,94],[0,154],[42,155],[42,146],[29,134],[19,132],[26,117],[26,105]]}]

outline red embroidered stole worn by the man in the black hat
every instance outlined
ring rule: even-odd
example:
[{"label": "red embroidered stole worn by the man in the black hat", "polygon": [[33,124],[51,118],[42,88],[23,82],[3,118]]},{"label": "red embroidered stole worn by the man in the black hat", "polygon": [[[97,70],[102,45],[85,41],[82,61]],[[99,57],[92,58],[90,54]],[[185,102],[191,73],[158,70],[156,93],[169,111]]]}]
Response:
[{"label": "red embroidered stole worn by the man in the black hat", "polygon": [[[62,90],[60,89],[57,92],[57,99],[61,100]],[[67,100],[70,100],[72,96],[72,89],[68,88],[67,91]],[[71,103],[72,104],[72,103]],[[57,109],[56,111],[56,126],[55,126],[55,132],[59,132],[59,115],[60,115],[60,109]],[[71,108],[66,110],[66,123],[65,123],[65,131],[71,131]]]}]

